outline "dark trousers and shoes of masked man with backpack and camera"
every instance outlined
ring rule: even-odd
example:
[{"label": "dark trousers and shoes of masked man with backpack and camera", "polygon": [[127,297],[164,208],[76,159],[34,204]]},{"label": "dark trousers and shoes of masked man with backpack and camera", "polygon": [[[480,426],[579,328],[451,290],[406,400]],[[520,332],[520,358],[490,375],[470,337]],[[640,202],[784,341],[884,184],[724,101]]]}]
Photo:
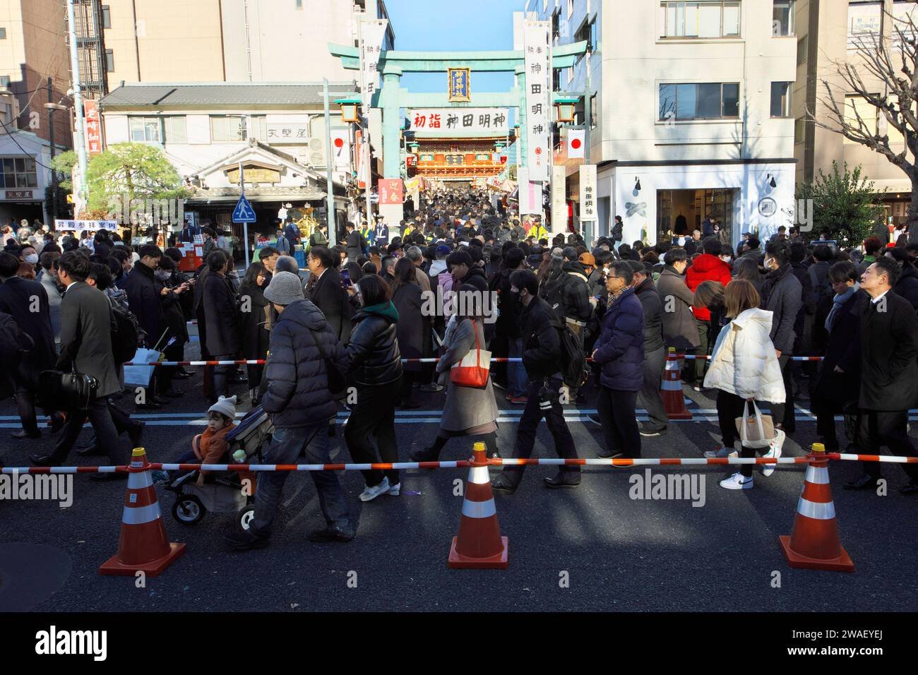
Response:
[{"label": "dark trousers and shoes of masked man with backpack and camera", "polygon": [[[539,395],[543,385],[547,385],[548,397],[552,407],[543,411],[539,407]],[[561,388],[561,380],[554,377],[537,378],[529,383],[529,390],[526,392],[529,400],[522,410],[520,426],[517,429],[516,443],[513,445],[513,458],[529,459],[532,456],[532,448],[535,446],[535,435],[539,429],[539,422],[543,418],[548,424],[548,431],[554,439],[554,451],[559,457],[564,459],[577,459],[577,448],[574,447],[574,437],[571,436],[570,429],[565,422],[565,411],[558,400],[558,390]],[[523,470],[526,467],[509,466],[504,467],[503,475],[508,478],[513,485],[519,485],[522,480]],[[560,474],[579,474],[580,467],[558,467]]]}]

